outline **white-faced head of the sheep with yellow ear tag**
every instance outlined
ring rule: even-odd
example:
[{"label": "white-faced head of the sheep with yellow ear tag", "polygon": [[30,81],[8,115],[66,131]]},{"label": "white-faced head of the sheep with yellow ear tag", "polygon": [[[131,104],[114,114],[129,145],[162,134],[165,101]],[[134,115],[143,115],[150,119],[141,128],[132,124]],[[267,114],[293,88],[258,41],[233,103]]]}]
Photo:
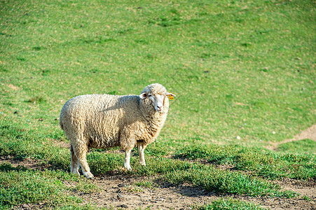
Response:
[{"label": "white-faced head of the sheep with yellow ear tag", "polygon": [[145,87],[139,97],[144,100],[150,100],[149,102],[151,102],[151,105],[158,113],[167,113],[169,98],[173,98],[175,95],[167,92],[163,85],[154,83]]}]

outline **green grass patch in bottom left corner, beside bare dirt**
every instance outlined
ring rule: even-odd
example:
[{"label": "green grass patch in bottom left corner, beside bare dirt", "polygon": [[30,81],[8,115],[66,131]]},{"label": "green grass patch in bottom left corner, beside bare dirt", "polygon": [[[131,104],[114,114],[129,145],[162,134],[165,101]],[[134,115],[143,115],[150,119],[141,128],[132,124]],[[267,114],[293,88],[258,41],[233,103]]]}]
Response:
[{"label": "green grass patch in bottom left corner, beside bare dirt", "polygon": [[[0,209],[39,202],[44,203],[47,208],[59,209],[72,205],[78,209],[89,209],[89,204],[81,205],[82,199],[74,193],[99,192],[99,187],[95,184],[60,170],[41,172],[4,163],[0,165],[0,172]],[[66,185],[65,182],[71,185]]]}]

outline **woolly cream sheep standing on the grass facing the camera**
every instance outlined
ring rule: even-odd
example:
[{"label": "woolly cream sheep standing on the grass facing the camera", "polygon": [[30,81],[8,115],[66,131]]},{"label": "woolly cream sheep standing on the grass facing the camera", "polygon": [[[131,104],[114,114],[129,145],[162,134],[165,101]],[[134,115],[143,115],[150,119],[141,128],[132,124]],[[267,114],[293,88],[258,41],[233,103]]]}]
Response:
[{"label": "woolly cream sheep standing on the grass facing the camera", "polygon": [[139,163],[146,166],[144,149],[156,140],[174,94],[153,83],[139,95],[85,94],[69,99],[60,112],[60,127],[71,142],[71,173],[93,179],[86,160],[89,148],[121,146],[129,171],[130,153],[137,146]]}]

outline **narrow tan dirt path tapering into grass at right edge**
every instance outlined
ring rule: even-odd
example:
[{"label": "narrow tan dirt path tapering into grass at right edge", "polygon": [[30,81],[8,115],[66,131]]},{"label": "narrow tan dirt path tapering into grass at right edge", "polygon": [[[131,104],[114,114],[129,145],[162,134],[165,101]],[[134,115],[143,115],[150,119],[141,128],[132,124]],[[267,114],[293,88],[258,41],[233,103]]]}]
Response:
[{"label": "narrow tan dirt path tapering into grass at right edge", "polygon": [[303,130],[301,134],[296,135],[292,139],[286,139],[280,142],[270,142],[270,145],[266,146],[266,148],[273,151],[277,151],[277,146],[279,146],[280,144],[285,144],[291,141],[299,141],[303,139],[312,139],[312,141],[316,141],[316,125],[312,125],[312,127],[308,127],[308,129]]}]

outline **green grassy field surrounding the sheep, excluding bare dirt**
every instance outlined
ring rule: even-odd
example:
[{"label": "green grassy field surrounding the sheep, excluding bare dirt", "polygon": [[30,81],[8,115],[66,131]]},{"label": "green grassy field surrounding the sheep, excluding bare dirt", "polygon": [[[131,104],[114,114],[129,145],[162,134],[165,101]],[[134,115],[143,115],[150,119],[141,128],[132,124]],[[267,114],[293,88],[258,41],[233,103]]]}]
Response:
[{"label": "green grassy field surrounding the sheep, excluding bare dirt", "polygon": [[[315,181],[315,141],[266,146],[316,123],[315,8],[308,0],[0,1],[0,157],[56,169],[0,165],[0,208],[46,202],[89,209],[65,196],[97,187],[69,174],[69,150],[58,146],[68,142],[60,110],[76,95],[140,94],[150,83],[177,97],[145,151],[148,166],[134,151],[127,173],[121,153],[92,150],[93,174],[298,196],[272,181]],[[236,205],[260,208],[219,200],[200,209]]]}]

